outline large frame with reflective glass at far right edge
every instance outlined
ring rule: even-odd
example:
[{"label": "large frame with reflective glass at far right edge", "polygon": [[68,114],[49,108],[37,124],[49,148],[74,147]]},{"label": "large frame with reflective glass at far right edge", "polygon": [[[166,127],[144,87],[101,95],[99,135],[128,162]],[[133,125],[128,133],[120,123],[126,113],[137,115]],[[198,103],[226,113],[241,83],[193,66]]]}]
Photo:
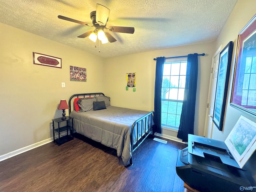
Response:
[{"label": "large frame with reflective glass at far right edge", "polygon": [[256,15],[238,34],[230,105],[256,116]]}]

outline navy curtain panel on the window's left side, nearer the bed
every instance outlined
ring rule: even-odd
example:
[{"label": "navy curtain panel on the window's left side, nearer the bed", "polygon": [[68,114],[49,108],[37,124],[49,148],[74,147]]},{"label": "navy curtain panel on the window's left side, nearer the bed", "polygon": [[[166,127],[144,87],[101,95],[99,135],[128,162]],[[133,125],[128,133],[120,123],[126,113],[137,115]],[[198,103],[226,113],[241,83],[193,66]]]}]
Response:
[{"label": "navy curtain panel on the window's left side, nearer the bed", "polygon": [[154,128],[153,133],[162,133],[161,129],[161,93],[164,70],[164,57],[156,58],[155,102],[154,102]]}]

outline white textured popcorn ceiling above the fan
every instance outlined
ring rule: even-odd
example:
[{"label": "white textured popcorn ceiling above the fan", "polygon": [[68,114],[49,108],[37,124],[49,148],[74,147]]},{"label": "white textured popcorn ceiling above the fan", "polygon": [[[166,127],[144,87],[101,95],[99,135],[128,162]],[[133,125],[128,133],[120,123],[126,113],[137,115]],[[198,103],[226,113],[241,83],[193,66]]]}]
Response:
[{"label": "white textured popcorn ceiling above the fan", "polygon": [[[0,0],[0,22],[108,58],[217,38],[237,0]],[[58,19],[66,16],[92,24],[96,3],[110,9],[108,26],[132,26],[134,34],[110,32],[117,42],[95,48],[77,38],[94,27]]]}]

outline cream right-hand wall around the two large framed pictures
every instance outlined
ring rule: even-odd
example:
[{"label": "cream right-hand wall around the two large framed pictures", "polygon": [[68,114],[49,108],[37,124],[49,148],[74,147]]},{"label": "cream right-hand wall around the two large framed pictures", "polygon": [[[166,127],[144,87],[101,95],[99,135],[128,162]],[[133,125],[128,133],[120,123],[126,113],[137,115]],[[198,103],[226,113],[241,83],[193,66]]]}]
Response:
[{"label": "cream right-hand wall around the two large framed pictures", "polygon": [[255,117],[247,115],[246,113],[241,112],[240,110],[230,106],[238,33],[242,30],[242,28],[244,28],[244,26],[250,21],[250,19],[255,14],[256,14],[255,0],[238,0],[224,28],[222,29],[220,35],[218,36],[218,39],[216,40],[216,47],[215,47],[216,50],[221,44],[223,44],[223,47],[225,47],[226,44],[228,44],[228,42],[230,41],[234,42],[232,66],[231,66],[230,80],[229,80],[230,83],[228,87],[228,96],[227,96],[227,102],[226,102],[226,111],[224,116],[223,130],[219,131],[218,128],[214,125],[213,132],[212,132],[212,138],[216,140],[224,141],[241,115],[256,122]]}]

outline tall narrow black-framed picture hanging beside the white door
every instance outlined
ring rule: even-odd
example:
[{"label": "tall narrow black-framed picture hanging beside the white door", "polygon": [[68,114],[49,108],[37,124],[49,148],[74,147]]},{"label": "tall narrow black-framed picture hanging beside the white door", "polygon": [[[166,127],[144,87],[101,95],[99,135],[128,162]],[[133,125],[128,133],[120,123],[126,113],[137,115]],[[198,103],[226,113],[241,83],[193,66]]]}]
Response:
[{"label": "tall narrow black-framed picture hanging beside the white door", "polygon": [[232,60],[233,42],[230,41],[220,52],[218,77],[214,102],[213,122],[222,131],[226,99],[228,93],[228,81]]}]

